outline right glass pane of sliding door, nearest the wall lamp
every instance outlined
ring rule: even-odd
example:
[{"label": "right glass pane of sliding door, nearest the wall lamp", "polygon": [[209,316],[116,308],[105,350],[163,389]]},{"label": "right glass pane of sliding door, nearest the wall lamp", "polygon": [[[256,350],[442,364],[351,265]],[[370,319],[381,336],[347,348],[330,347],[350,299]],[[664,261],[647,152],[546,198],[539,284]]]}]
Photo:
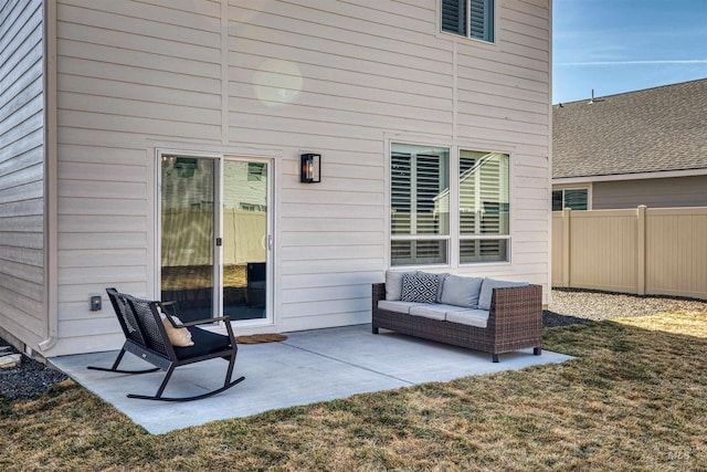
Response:
[{"label": "right glass pane of sliding door, nearest the wall lamp", "polygon": [[223,314],[262,319],[267,305],[267,164],[223,162]]}]

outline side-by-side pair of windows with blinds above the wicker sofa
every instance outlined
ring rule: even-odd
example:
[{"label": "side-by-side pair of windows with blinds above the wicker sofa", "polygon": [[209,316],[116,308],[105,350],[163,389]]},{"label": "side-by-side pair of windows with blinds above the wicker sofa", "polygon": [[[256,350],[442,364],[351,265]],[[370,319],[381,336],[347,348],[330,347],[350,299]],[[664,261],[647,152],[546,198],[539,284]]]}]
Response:
[{"label": "side-by-side pair of windows with blinds above the wicker sofa", "polygon": [[[451,165],[454,162],[454,166]],[[450,191],[450,169],[458,191]],[[391,265],[509,260],[509,156],[405,144],[391,145]],[[458,216],[456,234],[450,214]]]}]

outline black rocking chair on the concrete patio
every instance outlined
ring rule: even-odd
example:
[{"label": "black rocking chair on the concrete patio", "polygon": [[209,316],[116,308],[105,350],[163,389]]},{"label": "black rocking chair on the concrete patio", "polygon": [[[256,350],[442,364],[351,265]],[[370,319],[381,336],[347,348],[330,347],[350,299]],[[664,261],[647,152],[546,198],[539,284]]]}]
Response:
[{"label": "black rocking chair on the concrete patio", "polygon": [[[128,294],[119,293],[115,289],[106,289],[106,292],[108,293],[113,308],[115,310],[120,327],[123,328],[123,333],[125,334],[125,343],[110,368],[94,366],[89,366],[88,368],[118,374],[147,374],[160,369],[167,371],[167,375],[155,396],[129,394],[128,398],[161,401],[199,400],[225,391],[245,379],[245,377],[240,377],[231,381],[233,366],[235,365],[238,345],[228,316],[200,319],[178,325],[172,318],[172,316],[177,316],[176,302],[152,302],[148,300],[140,300]],[[162,322],[162,316],[165,315],[166,319],[169,321],[172,327],[189,331],[193,346],[172,346]],[[198,327],[198,325],[211,324],[219,321],[224,322],[228,336]],[[120,360],[123,360],[123,356],[126,352],[131,353],[157,367],[145,370],[118,369],[118,365],[120,364]],[[229,361],[223,387],[193,397],[162,397],[165,387],[167,387],[167,382],[175,371],[175,368],[217,357],[221,357]]]}]

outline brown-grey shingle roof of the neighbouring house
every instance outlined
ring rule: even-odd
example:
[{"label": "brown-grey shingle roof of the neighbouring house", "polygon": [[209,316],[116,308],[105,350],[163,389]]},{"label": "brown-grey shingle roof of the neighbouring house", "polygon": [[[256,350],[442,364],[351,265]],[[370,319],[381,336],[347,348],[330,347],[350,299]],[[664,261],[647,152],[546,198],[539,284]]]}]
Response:
[{"label": "brown-grey shingle roof of the neighbouring house", "polygon": [[707,169],[707,78],[552,107],[552,177]]}]

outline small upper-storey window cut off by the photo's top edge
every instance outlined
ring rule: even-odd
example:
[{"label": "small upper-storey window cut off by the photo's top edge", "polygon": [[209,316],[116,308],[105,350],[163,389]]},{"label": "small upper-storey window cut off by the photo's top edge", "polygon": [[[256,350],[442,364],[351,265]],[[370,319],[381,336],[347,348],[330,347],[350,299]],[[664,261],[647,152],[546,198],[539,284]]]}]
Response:
[{"label": "small upper-storey window cut off by the photo's top edge", "polygon": [[494,0],[442,0],[442,31],[494,42]]}]

